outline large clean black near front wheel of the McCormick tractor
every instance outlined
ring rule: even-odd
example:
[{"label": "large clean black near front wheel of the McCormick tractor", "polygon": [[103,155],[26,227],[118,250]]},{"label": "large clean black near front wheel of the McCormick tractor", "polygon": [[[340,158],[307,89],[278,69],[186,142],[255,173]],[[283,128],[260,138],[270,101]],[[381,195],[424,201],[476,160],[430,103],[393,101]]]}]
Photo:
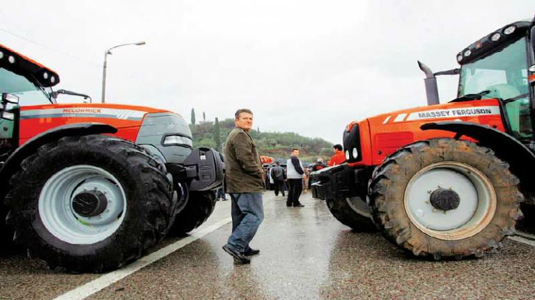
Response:
[{"label": "large clean black near front wheel of the McCormick tractor", "polygon": [[139,258],[173,218],[164,165],[132,142],[61,138],[26,158],[10,180],[15,242],[49,267],[104,272]]}]

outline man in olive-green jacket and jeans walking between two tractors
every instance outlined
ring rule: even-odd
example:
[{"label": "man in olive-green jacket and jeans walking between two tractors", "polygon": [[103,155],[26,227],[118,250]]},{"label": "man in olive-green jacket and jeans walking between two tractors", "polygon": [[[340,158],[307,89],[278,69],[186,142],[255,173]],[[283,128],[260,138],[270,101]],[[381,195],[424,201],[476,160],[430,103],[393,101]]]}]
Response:
[{"label": "man in olive-green jacket and jeans walking between two tractors", "polygon": [[223,246],[234,257],[235,263],[247,264],[247,256],[260,253],[251,249],[258,226],[264,219],[262,191],[265,189],[261,158],[249,131],[253,113],[242,108],[235,113],[235,128],[225,142],[226,192],[232,200],[232,234]]}]

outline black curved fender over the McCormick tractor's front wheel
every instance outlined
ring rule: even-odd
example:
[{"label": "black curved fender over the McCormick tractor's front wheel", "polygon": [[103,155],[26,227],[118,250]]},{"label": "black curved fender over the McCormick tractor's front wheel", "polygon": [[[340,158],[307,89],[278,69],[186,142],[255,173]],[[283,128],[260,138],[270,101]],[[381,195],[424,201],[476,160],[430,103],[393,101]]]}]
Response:
[{"label": "black curved fender over the McCormick tractor's front wheel", "polygon": [[[77,124],[68,124],[63,126],[54,127],[48,131],[42,132],[27,142],[25,142],[21,147],[18,147],[11,153],[9,158],[6,160],[0,169],[0,184],[5,187],[9,185],[9,179],[17,169],[20,168],[20,164],[24,158],[34,153],[44,144],[63,138],[64,136],[69,135],[92,135],[100,133],[116,133],[117,128],[108,124],[101,123],[77,123]],[[2,188],[0,191],[0,197],[4,197],[8,189]]]}]

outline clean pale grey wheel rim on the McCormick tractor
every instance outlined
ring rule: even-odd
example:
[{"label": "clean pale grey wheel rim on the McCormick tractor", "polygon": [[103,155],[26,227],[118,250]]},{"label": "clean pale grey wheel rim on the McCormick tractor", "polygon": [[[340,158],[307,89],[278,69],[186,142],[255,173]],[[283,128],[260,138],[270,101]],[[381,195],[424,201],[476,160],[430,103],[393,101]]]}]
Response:
[{"label": "clean pale grey wheel rim on the McCormick tractor", "polygon": [[109,172],[91,165],[75,165],[47,180],[39,195],[38,209],[42,223],[59,240],[94,244],[121,226],[126,196],[121,183]]}]

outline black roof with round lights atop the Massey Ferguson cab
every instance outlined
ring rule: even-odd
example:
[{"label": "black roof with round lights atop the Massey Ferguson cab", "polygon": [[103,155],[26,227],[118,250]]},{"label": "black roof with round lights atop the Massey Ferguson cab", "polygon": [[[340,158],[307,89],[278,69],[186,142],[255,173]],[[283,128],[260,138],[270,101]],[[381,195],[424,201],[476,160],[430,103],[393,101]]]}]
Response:
[{"label": "black roof with round lights atop the Massey Ferguson cab", "polygon": [[518,40],[520,36],[525,36],[532,26],[532,22],[532,20],[527,19],[498,28],[460,51],[457,54],[457,62],[464,65],[482,58],[488,53],[493,53],[497,49],[504,49],[511,42]]}]

